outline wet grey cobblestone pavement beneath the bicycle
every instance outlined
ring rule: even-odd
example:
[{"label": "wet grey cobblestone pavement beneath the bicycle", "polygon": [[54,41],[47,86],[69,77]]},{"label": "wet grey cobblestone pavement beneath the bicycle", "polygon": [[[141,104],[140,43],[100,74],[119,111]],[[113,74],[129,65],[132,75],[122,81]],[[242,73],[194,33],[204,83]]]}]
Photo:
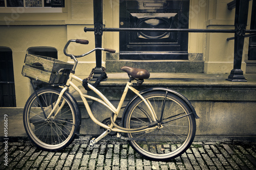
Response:
[{"label": "wet grey cobblestone pavement beneath the bicycle", "polygon": [[41,151],[28,140],[9,141],[8,152],[5,143],[0,149],[0,169],[256,169],[256,143],[194,142],[182,156],[157,162],[139,156],[126,141],[102,140],[89,150],[88,139],[79,137],[60,152]]}]

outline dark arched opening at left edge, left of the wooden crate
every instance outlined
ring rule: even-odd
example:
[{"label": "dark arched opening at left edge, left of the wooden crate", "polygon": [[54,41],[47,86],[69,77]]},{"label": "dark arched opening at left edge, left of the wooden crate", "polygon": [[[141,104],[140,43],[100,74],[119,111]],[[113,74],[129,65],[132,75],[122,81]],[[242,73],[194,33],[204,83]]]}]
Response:
[{"label": "dark arched opening at left edge, left of the wooden crate", "polygon": [[12,51],[0,47],[0,107],[16,107]]}]

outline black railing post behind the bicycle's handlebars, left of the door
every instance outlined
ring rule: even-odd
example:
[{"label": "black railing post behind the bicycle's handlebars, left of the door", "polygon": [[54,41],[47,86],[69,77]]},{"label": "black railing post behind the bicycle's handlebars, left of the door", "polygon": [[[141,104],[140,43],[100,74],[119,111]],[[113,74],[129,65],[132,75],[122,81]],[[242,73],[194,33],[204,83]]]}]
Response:
[{"label": "black railing post behind the bicycle's handlebars, left of the door", "polygon": [[[103,33],[103,22],[102,22],[102,0],[93,0],[93,15],[94,15],[94,35],[95,35],[95,47],[102,46],[102,33]],[[95,51],[96,54],[96,68],[94,70],[93,79],[97,79],[102,73],[101,68],[101,51]]]}]

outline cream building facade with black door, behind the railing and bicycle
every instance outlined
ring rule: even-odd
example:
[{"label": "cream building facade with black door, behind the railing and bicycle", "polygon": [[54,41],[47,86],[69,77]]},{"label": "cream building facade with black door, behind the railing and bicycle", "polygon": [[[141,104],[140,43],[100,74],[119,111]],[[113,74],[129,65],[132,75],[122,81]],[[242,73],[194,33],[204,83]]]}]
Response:
[{"label": "cream building facade with black door, behind the railing and bicycle", "polygon": [[[69,39],[90,42],[71,45],[68,51],[75,55],[95,47],[94,33],[84,32],[84,27],[94,27],[93,0],[66,0],[65,7],[57,8],[51,8],[46,0],[0,3],[1,107],[24,107],[31,94],[29,79],[21,75],[26,54],[72,62],[63,54]],[[103,0],[103,26],[234,29],[235,10],[228,9],[228,3],[230,0]],[[253,4],[254,1],[249,2],[246,29],[254,29]],[[152,72],[229,74],[234,58],[234,41],[227,41],[229,37],[233,34],[104,32],[102,47],[113,48],[116,54],[103,53],[102,66],[109,72],[119,71],[122,64],[129,63]],[[245,38],[244,72],[249,68],[246,62],[253,65],[256,60],[253,42],[252,38]],[[95,67],[95,53],[78,60],[77,75],[87,77]]]}]

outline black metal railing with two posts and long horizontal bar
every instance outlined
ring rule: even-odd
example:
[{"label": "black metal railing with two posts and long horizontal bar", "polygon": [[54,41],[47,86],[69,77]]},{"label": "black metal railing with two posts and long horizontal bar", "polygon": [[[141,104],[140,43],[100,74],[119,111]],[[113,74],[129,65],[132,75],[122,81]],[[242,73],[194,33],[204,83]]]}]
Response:
[{"label": "black metal railing with two posts and long horizontal bar", "polygon": [[[233,69],[228,76],[228,81],[243,81],[247,79],[241,70],[244,38],[255,36],[256,30],[246,30],[247,16],[250,0],[236,0],[234,28],[228,29],[148,29],[148,28],[103,28],[102,24],[102,0],[94,0],[94,28],[84,28],[84,32],[94,32],[95,46],[101,47],[103,32],[189,32],[189,33],[233,33],[234,37],[227,38],[227,41],[234,39],[234,62]],[[232,3],[234,4],[234,3]],[[230,8],[230,10],[233,9]],[[245,33],[250,33],[245,35]],[[96,67],[101,69],[101,53],[96,54]],[[94,77],[94,78],[97,78]]]}]

